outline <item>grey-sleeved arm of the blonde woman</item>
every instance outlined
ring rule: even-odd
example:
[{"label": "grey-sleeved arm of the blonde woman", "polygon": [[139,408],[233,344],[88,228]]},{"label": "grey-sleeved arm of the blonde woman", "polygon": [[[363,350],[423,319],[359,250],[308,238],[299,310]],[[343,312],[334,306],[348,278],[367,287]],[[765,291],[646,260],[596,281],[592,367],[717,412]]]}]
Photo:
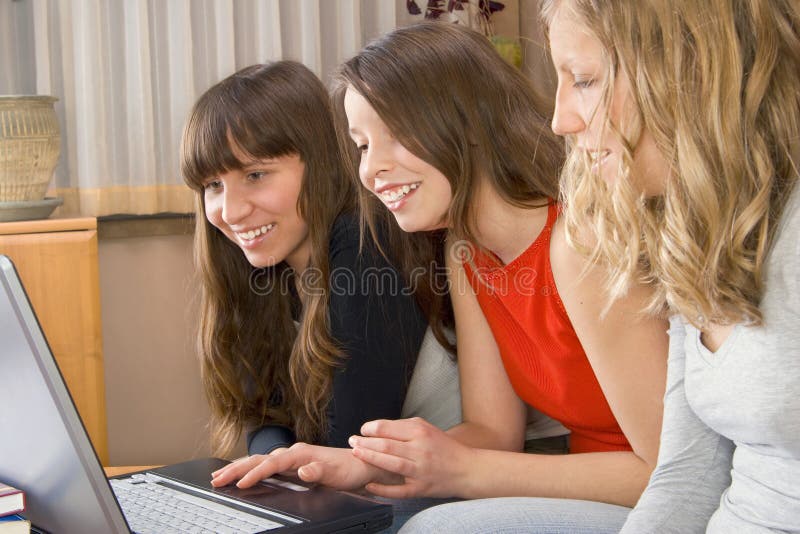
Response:
[{"label": "grey-sleeved arm of the blonde woman", "polygon": [[626,534],[705,532],[731,481],[733,444],[708,428],[689,406],[684,390],[686,332],[679,318],[670,323],[658,467],[622,528]]}]

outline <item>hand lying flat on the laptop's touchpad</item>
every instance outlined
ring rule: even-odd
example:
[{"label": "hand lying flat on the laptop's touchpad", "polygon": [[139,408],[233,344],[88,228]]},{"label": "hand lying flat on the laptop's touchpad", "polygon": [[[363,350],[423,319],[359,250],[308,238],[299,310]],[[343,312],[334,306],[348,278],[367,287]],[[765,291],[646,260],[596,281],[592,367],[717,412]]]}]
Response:
[{"label": "hand lying flat on the laptop's touchpad", "polygon": [[211,485],[216,488],[238,480],[238,487],[249,488],[287,471],[297,471],[297,476],[305,482],[340,490],[359,489],[372,480],[390,481],[387,474],[355,458],[349,449],[295,443],[288,449],[248,456],[214,471]]}]

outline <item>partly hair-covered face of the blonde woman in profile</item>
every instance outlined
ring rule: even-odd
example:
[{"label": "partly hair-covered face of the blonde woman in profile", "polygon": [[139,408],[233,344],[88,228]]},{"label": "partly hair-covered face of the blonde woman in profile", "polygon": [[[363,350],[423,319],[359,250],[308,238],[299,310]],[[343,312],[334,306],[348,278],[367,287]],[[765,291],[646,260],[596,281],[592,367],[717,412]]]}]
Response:
[{"label": "partly hair-covered face of the blonde woman in profile", "polygon": [[[560,9],[550,24],[550,51],[558,75],[552,128],[557,135],[572,136],[574,150],[583,151],[591,170],[613,184],[623,170],[625,152],[608,121],[625,133],[639,113],[624,69],[614,79],[611,102],[604,102],[609,84],[608,53],[602,43],[568,13]],[[634,148],[631,179],[645,195],[661,194],[668,165],[651,133],[643,128]]]}]

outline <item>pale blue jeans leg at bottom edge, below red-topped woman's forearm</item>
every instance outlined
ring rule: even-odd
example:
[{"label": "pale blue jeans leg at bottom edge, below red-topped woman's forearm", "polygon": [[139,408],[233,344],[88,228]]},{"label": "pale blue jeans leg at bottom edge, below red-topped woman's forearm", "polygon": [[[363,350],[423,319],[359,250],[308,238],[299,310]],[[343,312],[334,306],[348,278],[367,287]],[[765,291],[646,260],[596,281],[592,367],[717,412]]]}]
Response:
[{"label": "pale blue jeans leg at bottom edge, below red-topped woman's forearm", "polygon": [[428,508],[408,520],[401,534],[616,534],[630,508],[593,501],[502,497]]}]

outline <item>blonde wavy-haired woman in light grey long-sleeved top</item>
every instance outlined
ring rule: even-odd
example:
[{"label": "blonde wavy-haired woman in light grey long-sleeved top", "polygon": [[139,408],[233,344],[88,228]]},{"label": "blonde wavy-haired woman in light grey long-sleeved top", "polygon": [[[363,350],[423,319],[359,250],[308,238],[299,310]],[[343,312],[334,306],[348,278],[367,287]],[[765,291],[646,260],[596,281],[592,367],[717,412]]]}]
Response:
[{"label": "blonde wavy-haired woman in light grey long-sleeved top", "polygon": [[611,299],[654,281],[673,314],[658,467],[622,531],[800,532],[800,3],[543,14],[567,233],[592,229]]}]

